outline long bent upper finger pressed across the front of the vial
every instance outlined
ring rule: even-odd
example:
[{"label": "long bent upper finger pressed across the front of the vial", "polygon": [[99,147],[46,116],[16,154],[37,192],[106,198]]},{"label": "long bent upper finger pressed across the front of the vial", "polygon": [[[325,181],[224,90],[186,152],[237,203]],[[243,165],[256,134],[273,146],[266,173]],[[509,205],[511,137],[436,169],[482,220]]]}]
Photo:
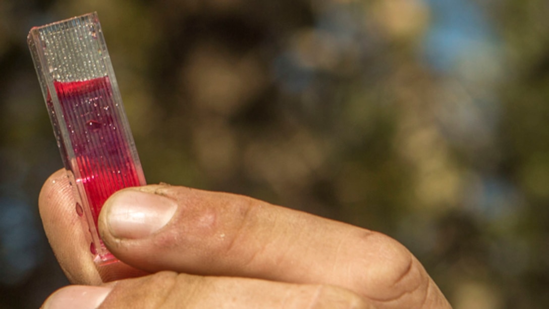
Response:
[{"label": "long bent upper finger pressed across the front of the vial", "polygon": [[99,230],[115,256],[149,272],[331,284],[385,305],[449,306],[399,242],[250,197],[167,185],[125,189],[105,203]]}]

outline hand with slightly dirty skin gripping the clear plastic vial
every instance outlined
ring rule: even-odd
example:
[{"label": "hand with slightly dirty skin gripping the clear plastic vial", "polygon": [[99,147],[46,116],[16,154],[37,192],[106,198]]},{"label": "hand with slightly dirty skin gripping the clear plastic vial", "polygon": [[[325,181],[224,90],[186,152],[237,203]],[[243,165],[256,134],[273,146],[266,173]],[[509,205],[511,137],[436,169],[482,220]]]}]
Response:
[{"label": "hand with slightly dirty skin gripping the clear plastic vial", "polygon": [[[99,233],[122,262],[103,283],[65,170],[39,198],[44,230],[75,285],[44,308],[450,308],[389,236],[254,198],[148,185],[116,192]],[[148,273],[148,274],[145,274]],[[128,279],[123,279],[128,278]]]}]

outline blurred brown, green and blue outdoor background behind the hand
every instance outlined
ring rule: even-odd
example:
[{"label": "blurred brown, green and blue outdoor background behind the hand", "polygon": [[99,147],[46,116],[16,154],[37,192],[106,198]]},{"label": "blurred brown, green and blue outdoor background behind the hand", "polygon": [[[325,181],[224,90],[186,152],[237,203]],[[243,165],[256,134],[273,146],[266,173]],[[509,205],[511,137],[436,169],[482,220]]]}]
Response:
[{"label": "blurred brown, green and blue outdoor background behind the hand", "polygon": [[94,10],[149,183],[382,231],[457,309],[549,307],[546,0],[2,0],[0,308],[68,284],[26,36]]}]

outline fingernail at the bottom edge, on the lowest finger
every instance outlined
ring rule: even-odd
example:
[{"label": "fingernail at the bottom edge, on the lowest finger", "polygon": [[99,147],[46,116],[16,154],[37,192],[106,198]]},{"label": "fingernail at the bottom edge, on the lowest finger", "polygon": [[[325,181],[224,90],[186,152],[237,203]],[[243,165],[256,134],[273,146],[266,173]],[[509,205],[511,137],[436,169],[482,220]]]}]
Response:
[{"label": "fingernail at the bottom edge, on the lowest finger", "polygon": [[95,309],[109,295],[111,288],[103,286],[70,285],[48,297],[43,309]]}]

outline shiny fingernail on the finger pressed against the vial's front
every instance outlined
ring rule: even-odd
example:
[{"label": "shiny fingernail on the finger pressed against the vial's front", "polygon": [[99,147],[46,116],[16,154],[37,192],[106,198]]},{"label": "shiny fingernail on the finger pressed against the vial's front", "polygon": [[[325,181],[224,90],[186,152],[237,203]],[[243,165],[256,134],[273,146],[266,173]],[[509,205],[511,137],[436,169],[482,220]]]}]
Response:
[{"label": "shiny fingernail on the finger pressed against the vial's front", "polygon": [[165,196],[130,189],[110,197],[105,207],[111,235],[140,239],[163,228],[173,217],[177,204]]}]

